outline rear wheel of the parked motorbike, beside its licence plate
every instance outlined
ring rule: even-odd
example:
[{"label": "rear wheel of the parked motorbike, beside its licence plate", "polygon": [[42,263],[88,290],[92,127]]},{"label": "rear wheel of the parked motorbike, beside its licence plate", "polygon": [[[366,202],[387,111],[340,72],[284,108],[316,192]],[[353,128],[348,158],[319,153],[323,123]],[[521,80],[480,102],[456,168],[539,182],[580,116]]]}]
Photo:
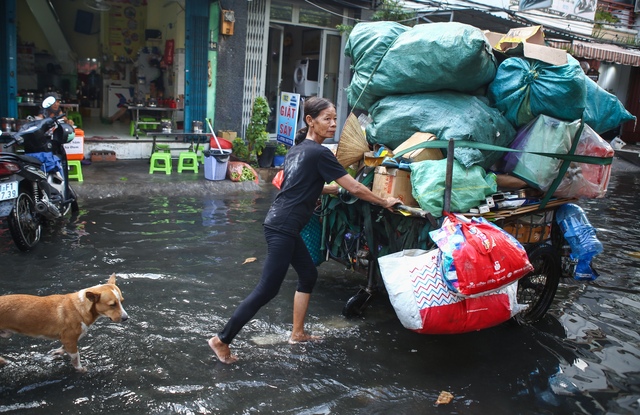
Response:
[{"label": "rear wheel of the parked motorbike, beside its licence plate", "polygon": [[9,232],[21,251],[28,251],[40,241],[42,224],[36,213],[31,195],[21,191],[9,215]]}]

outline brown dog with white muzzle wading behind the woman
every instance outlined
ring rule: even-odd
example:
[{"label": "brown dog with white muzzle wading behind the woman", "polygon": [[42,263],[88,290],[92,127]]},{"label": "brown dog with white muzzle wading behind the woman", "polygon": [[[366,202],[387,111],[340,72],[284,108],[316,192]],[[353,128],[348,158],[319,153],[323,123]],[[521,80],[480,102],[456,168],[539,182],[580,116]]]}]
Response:
[{"label": "brown dog with white muzzle wading behind the woman", "polygon": [[[119,323],[129,318],[122,308],[122,293],[116,286],[116,274],[103,285],[85,288],[71,294],[45,297],[11,294],[0,296],[0,337],[13,333],[62,341],[56,355],[65,352],[79,372],[86,369],[80,363],[78,340],[98,317]],[[6,361],[0,357],[0,366]]]}]

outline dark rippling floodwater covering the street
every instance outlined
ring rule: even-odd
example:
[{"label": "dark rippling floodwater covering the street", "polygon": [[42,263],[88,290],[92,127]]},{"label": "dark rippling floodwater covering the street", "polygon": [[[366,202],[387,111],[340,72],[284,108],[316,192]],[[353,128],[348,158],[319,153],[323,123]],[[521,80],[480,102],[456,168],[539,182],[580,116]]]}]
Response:
[{"label": "dark rippling floodwater covering the street", "polygon": [[[634,177],[636,176],[636,177]],[[207,339],[256,283],[261,221],[274,194],[90,200],[30,253],[0,235],[1,293],[52,294],[111,273],[130,319],[98,320],[80,341],[86,374],[58,344],[0,339],[0,413],[11,414],[637,414],[640,412],[640,227],[637,174],[606,199],[581,201],[605,252],[592,283],[562,283],[545,319],[448,336],[404,329],[383,295],[363,317],[341,310],[361,275],[320,266],[308,329],[288,345],[295,276],[233,344]],[[247,258],[257,258],[245,263]],[[437,406],[441,391],[453,401]]]}]

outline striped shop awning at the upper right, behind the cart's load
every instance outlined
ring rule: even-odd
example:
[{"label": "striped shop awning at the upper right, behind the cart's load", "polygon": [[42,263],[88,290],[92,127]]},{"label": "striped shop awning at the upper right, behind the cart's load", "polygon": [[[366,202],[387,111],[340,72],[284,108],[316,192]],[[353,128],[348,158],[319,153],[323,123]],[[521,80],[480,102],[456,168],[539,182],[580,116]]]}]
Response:
[{"label": "striped shop awning at the upper right, behind the cart's load", "polygon": [[627,49],[606,43],[581,42],[579,40],[572,42],[549,40],[547,43],[553,48],[569,51],[575,58],[595,59],[627,66],[640,66],[640,50],[637,49]]}]

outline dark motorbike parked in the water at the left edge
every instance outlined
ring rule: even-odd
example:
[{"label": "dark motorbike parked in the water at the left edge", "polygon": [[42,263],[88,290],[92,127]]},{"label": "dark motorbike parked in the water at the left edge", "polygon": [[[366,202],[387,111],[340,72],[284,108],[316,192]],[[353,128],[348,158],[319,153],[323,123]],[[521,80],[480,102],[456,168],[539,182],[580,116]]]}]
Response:
[{"label": "dark motorbike parked in the water at the left edge", "polygon": [[[50,97],[42,106],[48,108],[54,102]],[[69,185],[64,148],[75,130],[63,118],[61,114],[26,122],[4,145],[22,145],[24,155],[0,153],[0,218],[7,218],[11,237],[21,251],[29,251],[40,241],[44,225],[79,210]]]}]

